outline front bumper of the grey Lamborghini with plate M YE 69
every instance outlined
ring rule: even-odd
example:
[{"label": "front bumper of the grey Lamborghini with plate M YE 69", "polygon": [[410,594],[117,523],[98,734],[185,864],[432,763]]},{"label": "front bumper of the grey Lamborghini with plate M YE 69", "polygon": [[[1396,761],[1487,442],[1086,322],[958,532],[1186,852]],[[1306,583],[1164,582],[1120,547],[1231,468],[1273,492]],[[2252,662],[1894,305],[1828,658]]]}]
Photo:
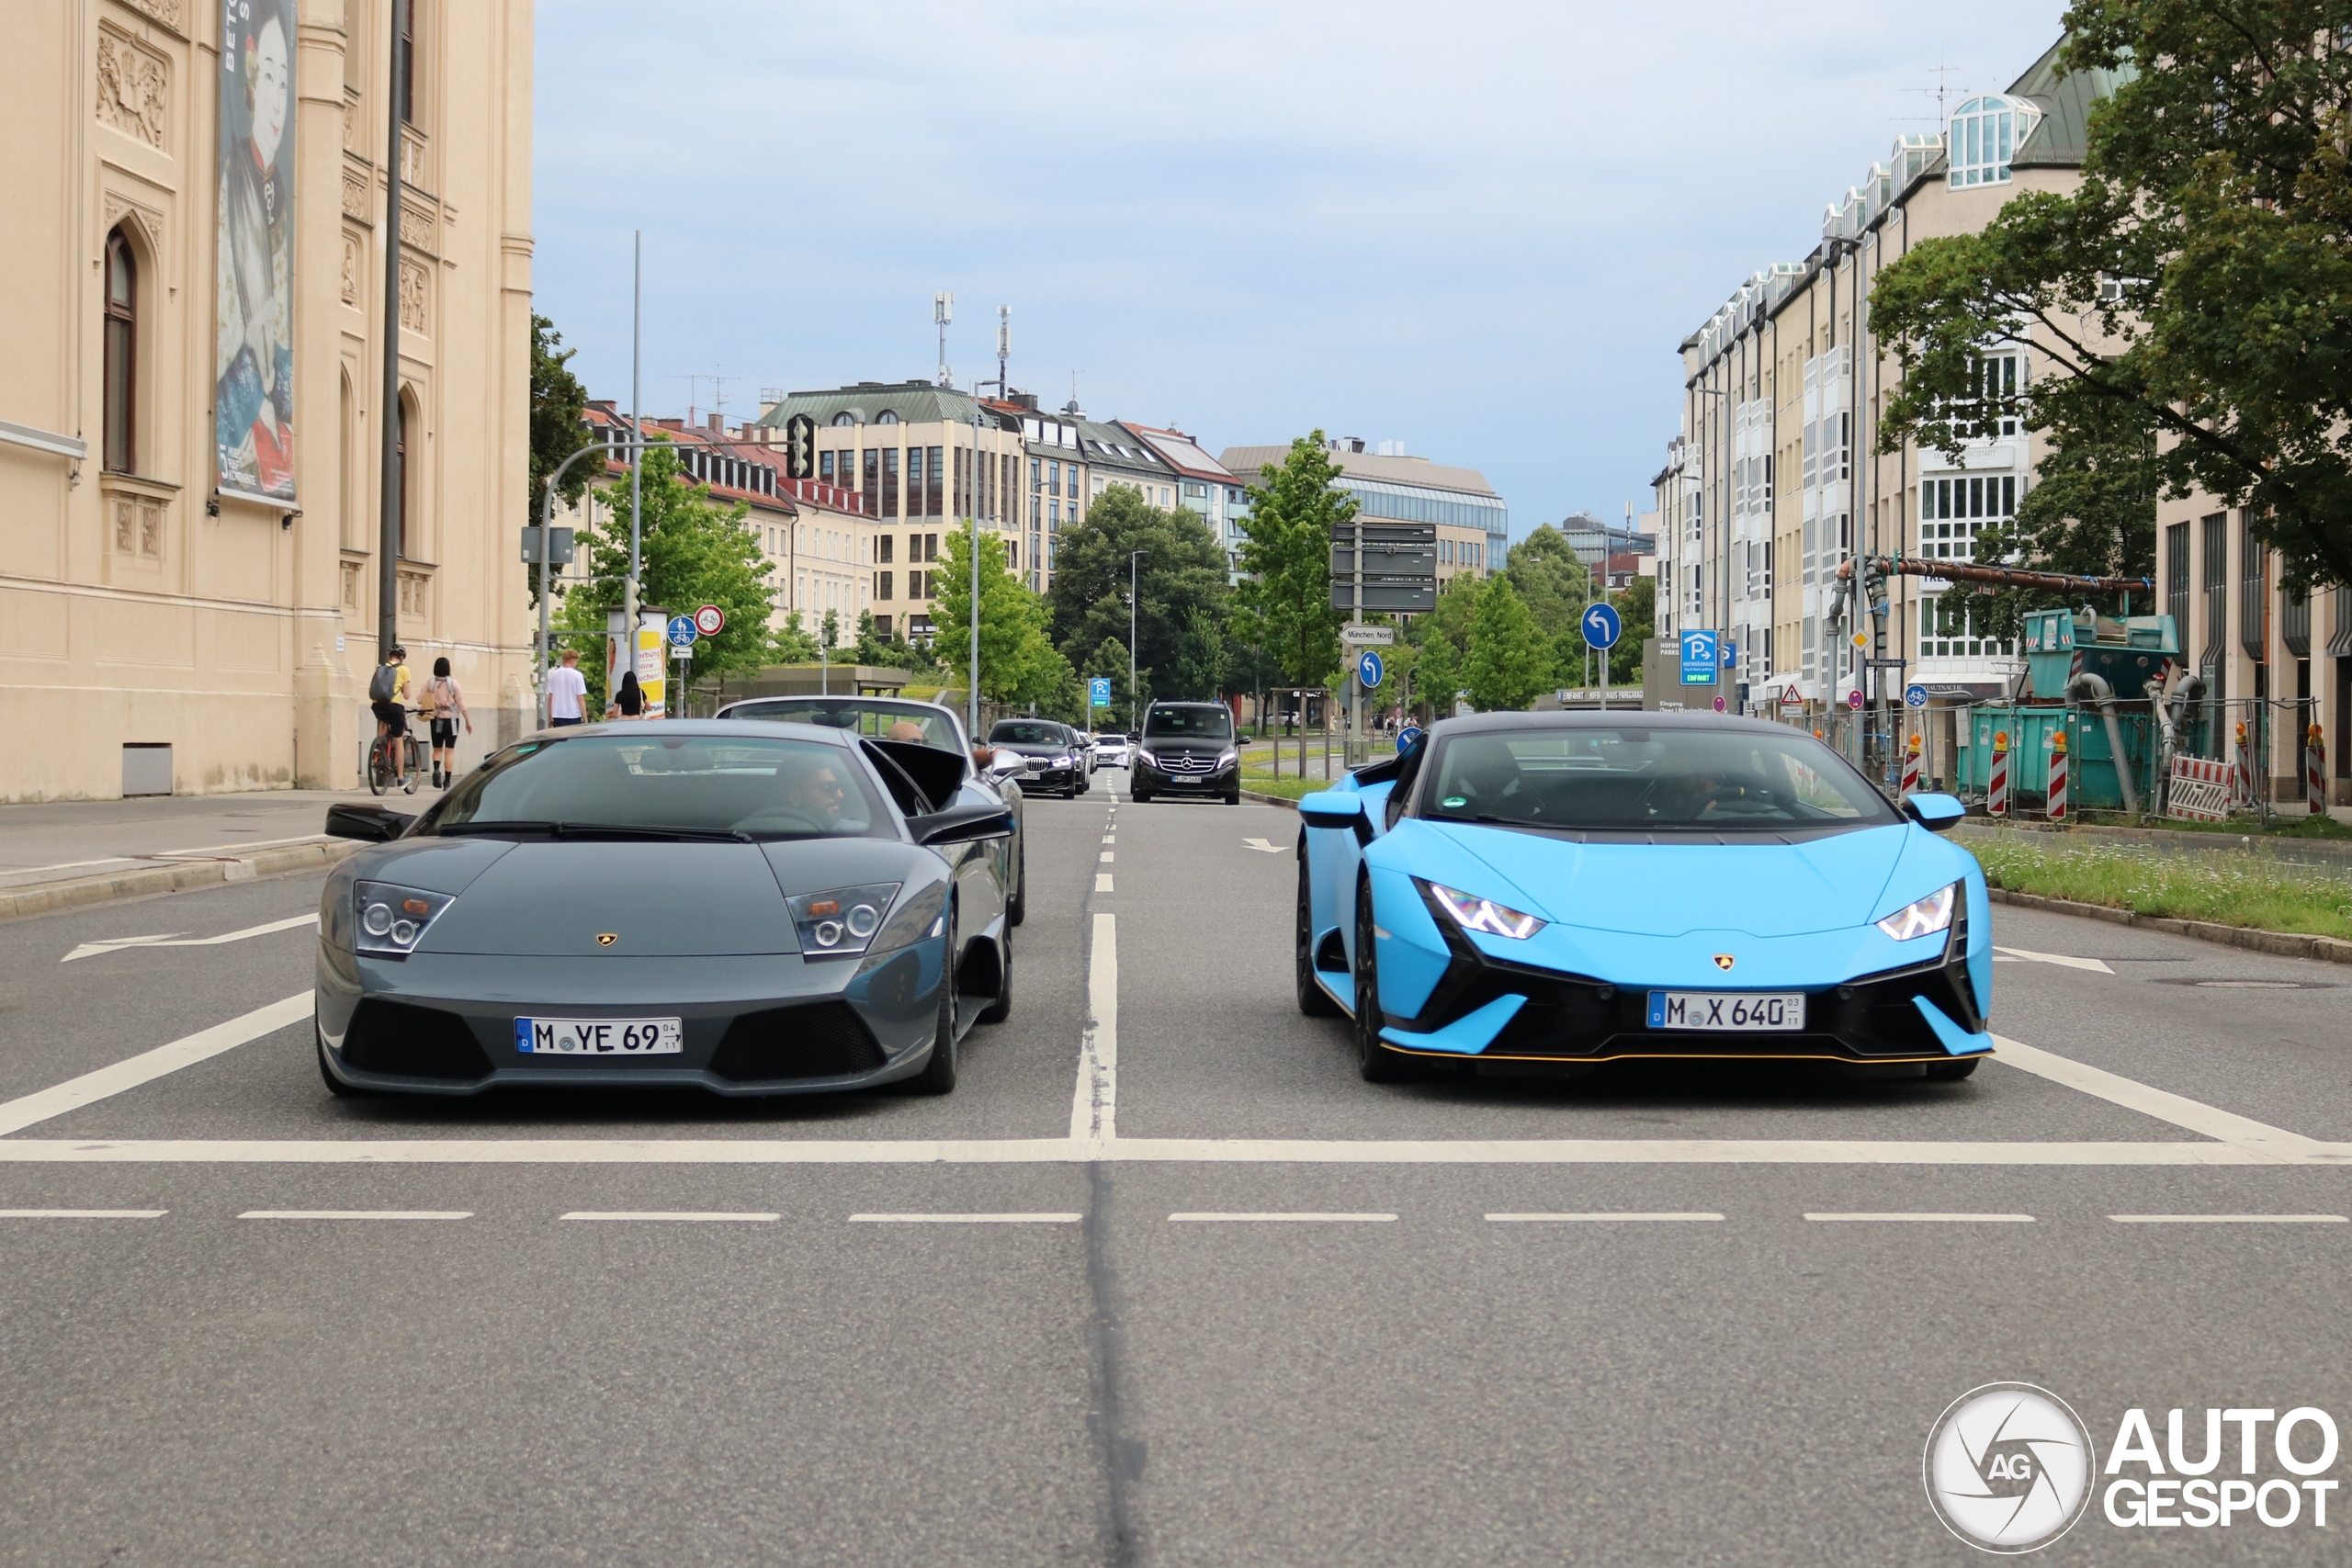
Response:
[{"label": "front bumper of the grey Lamborghini with plate M YE 69", "polygon": [[[830,1093],[922,1072],[938,1023],[946,938],[866,959],[572,959],[322,947],[318,1039],[355,1088],[475,1095],[534,1088]],[[673,1056],[536,1056],[517,1018],[677,1018]]]}]

